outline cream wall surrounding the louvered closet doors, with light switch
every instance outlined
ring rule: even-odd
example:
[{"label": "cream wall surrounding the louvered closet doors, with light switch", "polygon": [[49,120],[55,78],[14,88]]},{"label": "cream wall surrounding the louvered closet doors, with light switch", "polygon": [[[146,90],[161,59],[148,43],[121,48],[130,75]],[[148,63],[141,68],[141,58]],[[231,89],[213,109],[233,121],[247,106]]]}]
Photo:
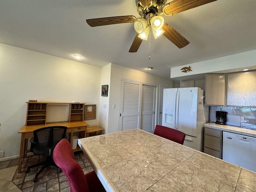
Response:
[{"label": "cream wall surrounding the louvered closet doors, with light switch", "polygon": [[[111,64],[111,80],[109,89],[109,111],[108,111],[108,133],[118,131],[118,121],[119,121],[119,108],[120,108],[120,91],[121,91],[121,80],[133,80],[142,83],[154,84],[157,86],[157,99],[156,99],[156,109],[158,109],[159,100],[159,86],[172,87],[172,80],[161,78],[158,76],[150,75],[141,71],[126,68],[120,65]],[[112,108],[113,104],[116,104],[116,108]],[[156,121],[158,122],[158,111],[156,111]]]}]

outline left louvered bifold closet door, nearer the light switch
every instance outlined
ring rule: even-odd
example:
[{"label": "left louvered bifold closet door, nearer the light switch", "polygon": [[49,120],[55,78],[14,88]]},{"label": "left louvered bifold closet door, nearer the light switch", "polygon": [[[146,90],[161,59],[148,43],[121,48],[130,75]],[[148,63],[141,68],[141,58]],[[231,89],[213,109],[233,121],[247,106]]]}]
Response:
[{"label": "left louvered bifold closet door, nearer the light switch", "polygon": [[135,129],[140,125],[140,86],[122,81],[119,131]]}]

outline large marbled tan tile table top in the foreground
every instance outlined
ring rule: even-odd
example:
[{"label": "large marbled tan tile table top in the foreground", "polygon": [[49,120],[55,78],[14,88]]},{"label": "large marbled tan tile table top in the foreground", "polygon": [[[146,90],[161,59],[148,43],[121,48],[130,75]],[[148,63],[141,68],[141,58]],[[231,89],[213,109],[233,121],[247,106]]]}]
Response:
[{"label": "large marbled tan tile table top in the foreground", "polygon": [[110,192],[255,192],[256,173],[140,129],[78,140]]}]

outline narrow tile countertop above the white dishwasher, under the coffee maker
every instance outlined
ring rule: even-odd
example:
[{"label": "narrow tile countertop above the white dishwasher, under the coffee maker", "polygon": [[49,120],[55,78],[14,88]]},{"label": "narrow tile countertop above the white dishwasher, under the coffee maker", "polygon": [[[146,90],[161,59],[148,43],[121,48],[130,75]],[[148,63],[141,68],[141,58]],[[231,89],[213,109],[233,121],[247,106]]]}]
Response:
[{"label": "narrow tile countertop above the white dishwasher, under the coffee maker", "polygon": [[252,130],[252,129],[240,128],[240,127],[229,126],[229,125],[219,125],[216,123],[207,123],[207,124],[204,124],[204,127],[246,135],[250,137],[256,137],[256,130]]}]

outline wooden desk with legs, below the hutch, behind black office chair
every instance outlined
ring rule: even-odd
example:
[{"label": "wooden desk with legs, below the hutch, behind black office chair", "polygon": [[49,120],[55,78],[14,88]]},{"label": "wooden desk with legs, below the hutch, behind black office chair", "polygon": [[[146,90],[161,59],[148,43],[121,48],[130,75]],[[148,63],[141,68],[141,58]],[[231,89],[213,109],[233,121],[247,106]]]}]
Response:
[{"label": "wooden desk with legs, below the hutch, behind black office chair", "polygon": [[[79,138],[83,138],[86,136],[86,127],[89,126],[88,123],[84,121],[78,122],[58,122],[58,123],[49,123],[44,125],[30,125],[30,126],[23,126],[18,133],[21,133],[21,140],[20,140],[20,157],[19,157],[19,164],[18,164],[18,173],[21,172],[21,165],[22,159],[26,158],[26,152],[28,148],[28,138],[34,137],[33,131],[39,128],[48,127],[48,126],[66,126],[67,131],[69,133],[69,141],[72,146],[72,137],[74,132],[80,132]],[[74,149],[73,151],[81,150],[79,146]]]}]

